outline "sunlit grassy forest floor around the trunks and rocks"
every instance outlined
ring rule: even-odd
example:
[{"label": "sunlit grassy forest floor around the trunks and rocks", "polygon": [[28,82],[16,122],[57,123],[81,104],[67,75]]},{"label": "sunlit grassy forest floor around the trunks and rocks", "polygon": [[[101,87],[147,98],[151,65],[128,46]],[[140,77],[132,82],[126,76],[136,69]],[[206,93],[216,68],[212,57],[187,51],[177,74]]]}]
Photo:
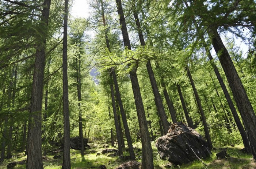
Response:
[{"label": "sunlit grassy forest floor around the trunks and rocks", "polygon": [[[119,159],[118,157],[107,157],[108,154],[101,154],[102,150],[104,150],[106,144],[89,144],[91,149],[85,150],[84,158],[81,157],[79,150],[70,149],[70,158],[71,158],[71,168],[72,169],[92,169],[98,168],[100,165],[106,165],[107,169],[114,169],[118,165],[125,162],[124,160]],[[140,148],[140,144],[134,144],[134,147]],[[113,148],[113,147],[108,147]],[[217,160],[216,153],[220,150],[213,150],[212,155],[207,159],[204,159],[203,162],[207,165],[203,165],[200,161],[194,161],[186,165],[182,166],[169,166],[168,161],[161,160],[158,156],[156,146],[154,146],[154,142],[152,142],[153,148],[153,157],[154,157],[154,168],[155,169],[256,169],[256,163],[252,162],[252,156],[248,154],[244,154],[240,151],[243,148],[241,145],[237,145],[235,147],[228,147],[227,153],[230,157]],[[95,150],[95,152],[91,152],[91,150]],[[129,152],[124,150],[124,156],[129,156]],[[62,166],[62,157],[59,159],[54,159],[54,155],[61,155],[63,152],[59,153],[49,153],[47,154],[46,160],[43,160],[44,169],[61,169]],[[100,153],[100,155],[97,153]],[[141,151],[138,152],[135,150],[135,154],[137,157],[137,161],[141,162]],[[13,152],[13,157],[9,160],[5,160],[3,164],[0,164],[0,169],[6,169],[7,165],[10,162],[14,161],[22,161],[26,159],[23,153],[15,153]],[[16,165],[13,169],[25,169],[24,165]]]}]

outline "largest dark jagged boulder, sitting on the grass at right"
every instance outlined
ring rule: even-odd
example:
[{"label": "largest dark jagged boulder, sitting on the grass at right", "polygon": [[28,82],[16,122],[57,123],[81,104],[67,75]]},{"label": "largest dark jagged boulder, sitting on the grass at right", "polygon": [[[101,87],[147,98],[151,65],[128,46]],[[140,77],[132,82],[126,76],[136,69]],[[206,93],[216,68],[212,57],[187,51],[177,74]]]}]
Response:
[{"label": "largest dark jagged boulder, sitting on the grass at right", "polygon": [[206,158],[211,154],[203,137],[182,122],[171,124],[168,133],[157,139],[156,147],[160,158],[177,165]]}]

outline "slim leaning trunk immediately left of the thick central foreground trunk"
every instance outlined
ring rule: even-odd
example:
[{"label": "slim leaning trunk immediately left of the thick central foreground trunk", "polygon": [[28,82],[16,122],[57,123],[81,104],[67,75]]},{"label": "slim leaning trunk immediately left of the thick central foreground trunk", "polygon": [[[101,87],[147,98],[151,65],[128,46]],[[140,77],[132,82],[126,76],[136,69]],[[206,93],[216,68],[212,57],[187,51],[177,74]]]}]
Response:
[{"label": "slim leaning trunk immediately left of the thick central foreground trunk", "polygon": [[125,136],[127,139],[127,144],[128,144],[128,149],[129,149],[129,153],[131,156],[131,160],[135,160],[135,153],[133,150],[133,144],[131,142],[131,135],[130,135],[130,130],[127,124],[127,118],[126,118],[126,114],[125,114],[125,110],[123,109],[123,102],[121,99],[121,94],[119,92],[119,86],[117,83],[117,79],[116,79],[116,74],[115,74],[115,70],[112,69],[112,76],[113,76],[113,80],[114,80],[114,84],[115,84],[115,92],[116,92],[116,98],[118,100],[118,104],[119,104],[119,108],[120,108],[120,112],[121,112],[121,116],[122,116],[122,121],[123,121],[123,126],[125,128]]}]

